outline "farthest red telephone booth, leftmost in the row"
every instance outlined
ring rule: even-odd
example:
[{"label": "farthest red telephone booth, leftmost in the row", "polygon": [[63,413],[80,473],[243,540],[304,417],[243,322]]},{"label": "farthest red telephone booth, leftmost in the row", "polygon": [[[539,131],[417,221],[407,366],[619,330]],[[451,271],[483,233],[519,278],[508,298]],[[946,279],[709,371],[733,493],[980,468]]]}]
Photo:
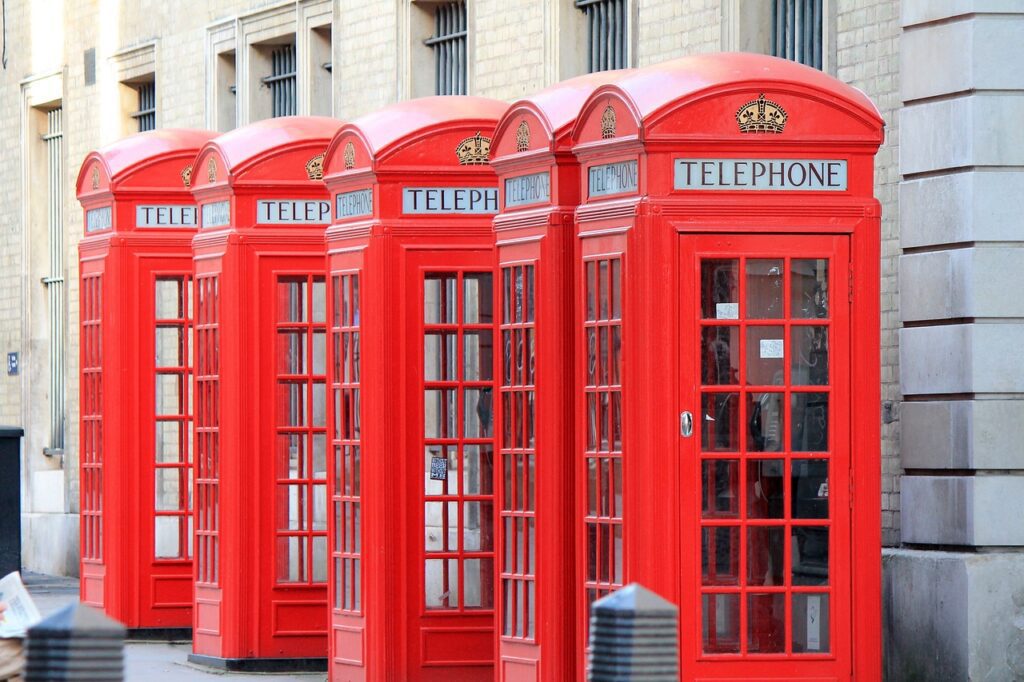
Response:
[{"label": "farthest red telephone booth, leftmost in the row", "polygon": [[191,628],[188,181],[213,135],[133,135],[86,157],[77,182],[81,598],[135,636]]}]

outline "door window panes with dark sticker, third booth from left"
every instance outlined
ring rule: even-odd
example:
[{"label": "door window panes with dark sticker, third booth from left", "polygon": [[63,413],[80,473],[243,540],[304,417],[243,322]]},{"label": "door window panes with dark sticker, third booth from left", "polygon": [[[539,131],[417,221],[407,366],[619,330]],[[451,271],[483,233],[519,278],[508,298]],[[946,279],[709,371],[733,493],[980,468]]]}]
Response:
[{"label": "door window panes with dark sticker, third booth from left", "polygon": [[494,386],[489,272],[424,278],[426,608],[494,608]]}]

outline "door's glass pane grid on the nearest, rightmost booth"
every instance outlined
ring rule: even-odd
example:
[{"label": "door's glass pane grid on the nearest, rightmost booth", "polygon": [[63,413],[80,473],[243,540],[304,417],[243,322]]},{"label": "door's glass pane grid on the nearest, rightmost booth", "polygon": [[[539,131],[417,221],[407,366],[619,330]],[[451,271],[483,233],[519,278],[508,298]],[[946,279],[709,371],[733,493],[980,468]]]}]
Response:
[{"label": "door's glass pane grid on the nearest, rightmost booth", "polygon": [[705,259],[703,654],[828,654],[828,262]]}]

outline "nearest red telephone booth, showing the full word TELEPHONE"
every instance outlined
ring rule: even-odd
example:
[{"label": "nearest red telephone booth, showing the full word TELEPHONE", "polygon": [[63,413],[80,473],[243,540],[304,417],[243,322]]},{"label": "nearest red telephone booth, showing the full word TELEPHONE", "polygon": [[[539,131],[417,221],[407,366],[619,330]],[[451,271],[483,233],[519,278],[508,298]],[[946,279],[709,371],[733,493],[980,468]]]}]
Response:
[{"label": "nearest red telephone booth, showing the full word TELEPHONE", "polygon": [[637,581],[680,604],[682,679],[881,679],[882,138],[858,90],[754,54],[584,105],[581,632]]}]

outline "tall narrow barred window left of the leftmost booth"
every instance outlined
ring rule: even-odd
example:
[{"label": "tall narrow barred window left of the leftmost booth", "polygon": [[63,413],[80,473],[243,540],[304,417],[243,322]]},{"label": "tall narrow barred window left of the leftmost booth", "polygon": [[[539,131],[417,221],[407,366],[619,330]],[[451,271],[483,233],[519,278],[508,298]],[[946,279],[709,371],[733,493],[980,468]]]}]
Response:
[{"label": "tall narrow barred window left of the leftmost booth", "polygon": [[63,287],[63,110],[46,114],[48,202],[47,232],[49,236],[49,274],[43,278],[49,307],[50,356],[50,438],[47,452],[61,453],[65,445],[65,287]]}]

